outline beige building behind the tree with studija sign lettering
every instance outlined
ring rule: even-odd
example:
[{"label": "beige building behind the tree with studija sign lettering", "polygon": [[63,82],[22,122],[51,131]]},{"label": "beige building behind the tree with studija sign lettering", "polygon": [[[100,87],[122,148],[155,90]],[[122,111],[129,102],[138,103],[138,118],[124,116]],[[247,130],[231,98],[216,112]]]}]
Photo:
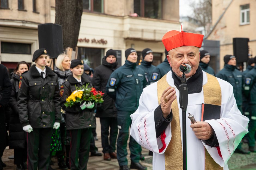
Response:
[{"label": "beige building behind the tree with studija sign lettering", "polygon": [[[83,9],[78,58],[92,68],[109,49],[117,50],[123,65],[130,47],[138,54],[151,48],[158,65],[165,57],[164,33],[180,29],[178,0],[83,0]],[[55,1],[1,0],[0,14],[1,63],[10,69],[22,60],[31,63],[39,47],[37,25],[55,22]]]}]

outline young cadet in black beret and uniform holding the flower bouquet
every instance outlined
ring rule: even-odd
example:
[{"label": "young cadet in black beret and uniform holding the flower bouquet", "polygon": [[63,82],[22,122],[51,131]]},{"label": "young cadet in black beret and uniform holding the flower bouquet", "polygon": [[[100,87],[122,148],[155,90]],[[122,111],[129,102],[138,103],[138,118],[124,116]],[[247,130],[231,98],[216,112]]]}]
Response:
[{"label": "young cadet in black beret and uniform holding the flower bouquet", "polygon": [[[70,70],[72,75],[69,75],[67,81],[60,87],[60,92],[62,93],[61,107],[66,111],[66,129],[71,137],[70,169],[83,170],[87,169],[92,128],[96,127],[93,117],[95,104],[84,102],[82,105],[64,106],[66,98],[76,90],[76,86],[81,87],[90,83],[84,76],[81,76],[84,72],[83,60],[72,60]],[[91,86],[90,83],[89,87]]]}]

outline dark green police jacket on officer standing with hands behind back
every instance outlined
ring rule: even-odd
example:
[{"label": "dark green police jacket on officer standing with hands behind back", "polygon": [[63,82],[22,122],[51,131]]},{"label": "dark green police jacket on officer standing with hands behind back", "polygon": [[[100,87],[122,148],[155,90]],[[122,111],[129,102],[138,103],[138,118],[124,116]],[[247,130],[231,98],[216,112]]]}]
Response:
[{"label": "dark green police jacket on officer standing with hands behind back", "polygon": [[106,92],[116,99],[115,106],[118,111],[135,111],[146,85],[144,70],[137,68],[136,63],[126,60],[123,66],[110,75]]}]

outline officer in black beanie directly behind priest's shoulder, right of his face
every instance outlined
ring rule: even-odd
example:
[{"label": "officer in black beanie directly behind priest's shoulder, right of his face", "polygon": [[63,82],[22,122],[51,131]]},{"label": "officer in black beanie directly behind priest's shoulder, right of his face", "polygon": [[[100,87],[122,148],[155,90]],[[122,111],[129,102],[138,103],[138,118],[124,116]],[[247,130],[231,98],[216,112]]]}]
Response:
[{"label": "officer in black beanie directly behind priest's shoulder, right of his face", "polygon": [[211,55],[208,51],[206,50],[200,51],[199,65],[201,66],[203,71],[215,76],[214,69],[209,66],[210,60],[211,60]]}]

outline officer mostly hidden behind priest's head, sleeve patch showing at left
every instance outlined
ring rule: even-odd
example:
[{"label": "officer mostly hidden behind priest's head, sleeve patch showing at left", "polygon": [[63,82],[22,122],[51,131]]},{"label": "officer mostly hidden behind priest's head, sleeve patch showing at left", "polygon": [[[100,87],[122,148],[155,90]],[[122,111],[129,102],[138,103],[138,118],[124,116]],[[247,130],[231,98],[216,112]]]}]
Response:
[{"label": "officer mostly hidden behind priest's head, sleeve patch showing at left", "polygon": [[164,75],[166,75],[166,73],[168,73],[171,70],[170,64],[167,60],[167,55],[168,55],[168,52],[165,50],[166,57],[164,61],[158,66],[156,66],[156,68],[154,68],[152,72],[152,75],[149,80],[151,84],[159,81],[160,78],[162,78]]}]

